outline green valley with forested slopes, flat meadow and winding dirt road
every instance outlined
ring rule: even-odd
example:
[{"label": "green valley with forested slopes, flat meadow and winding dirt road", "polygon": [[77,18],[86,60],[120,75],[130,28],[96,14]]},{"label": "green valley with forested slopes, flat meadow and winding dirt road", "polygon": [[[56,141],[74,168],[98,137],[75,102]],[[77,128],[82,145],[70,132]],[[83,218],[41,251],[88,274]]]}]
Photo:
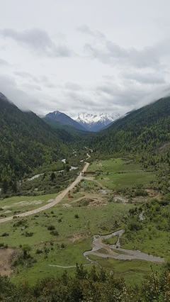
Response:
[{"label": "green valley with forested slopes, flat meadow and winding dirt road", "polygon": [[170,257],[169,99],[82,136],[1,105],[13,110],[11,124],[1,111],[0,130],[0,273],[11,286],[106,274],[130,291],[153,274],[161,280]]}]

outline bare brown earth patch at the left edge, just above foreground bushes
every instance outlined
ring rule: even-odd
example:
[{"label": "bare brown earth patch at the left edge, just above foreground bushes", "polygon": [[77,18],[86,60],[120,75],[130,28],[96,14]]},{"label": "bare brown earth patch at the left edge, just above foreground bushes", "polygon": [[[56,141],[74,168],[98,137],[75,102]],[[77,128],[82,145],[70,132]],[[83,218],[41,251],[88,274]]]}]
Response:
[{"label": "bare brown earth patch at the left edge, just above foreground bushes", "polygon": [[1,276],[10,276],[13,272],[11,269],[11,262],[13,260],[16,250],[14,249],[0,249],[0,274]]}]

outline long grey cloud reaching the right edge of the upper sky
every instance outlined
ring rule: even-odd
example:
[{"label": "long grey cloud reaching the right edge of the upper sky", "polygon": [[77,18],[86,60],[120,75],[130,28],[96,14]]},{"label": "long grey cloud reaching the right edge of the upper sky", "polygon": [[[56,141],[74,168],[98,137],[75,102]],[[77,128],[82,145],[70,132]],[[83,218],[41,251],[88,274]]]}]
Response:
[{"label": "long grey cloud reaching the right edge of the upper sky", "polygon": [[164,68],[162,59],[170,55],[170,39],[162,40],[152,46],[137,50],[135,47],[121,47],[114,41],[108,40],[102,33],[91,31],[88,26],[81,26],[77,29],[94,38],[91,43],[84,44],[86,53],[111,67],[126,65],[138,69],[148,67],[153,69]]}]

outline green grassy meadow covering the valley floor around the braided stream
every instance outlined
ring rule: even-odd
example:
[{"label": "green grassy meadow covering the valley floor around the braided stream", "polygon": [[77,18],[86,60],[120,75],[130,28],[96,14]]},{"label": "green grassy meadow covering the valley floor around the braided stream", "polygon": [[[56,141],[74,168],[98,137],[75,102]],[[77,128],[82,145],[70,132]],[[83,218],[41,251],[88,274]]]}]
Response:
[{"label": "green grassy meadow covering the valley floor around the braided stream", "polygon": [[[47,211],[1,223],[0,246],[8,245],[16,250],[13,259],[14,272],[11,276],[13,282],[19,283],[24,277],[30,284],[35,284],[38,278],[60,275],[69,266],[67,270],[72,275],[76,263],[88,264],[86,268],[91,269],[92,264],[83,253],[91,250],[93,235],[106,235],[121,228],[125,228],[121,237],[123,248],[141,250],[165,259],[169,257],[168,229],[164,230],[164,226],[158,229],[154,220],[150,220],[151,211],[156,211],[155,204],[151,203],[150,207],[144,208],[146,217],[139,221],[139,213],[143,210],[141,201],[114,202],[118,191],[128,188],[135,190],[139,186],[145,191],[150,182],[154,181],[154,174],[144,171],[139,164],[122,159],[96,161],[90,164],[89,171],[96,171],[96,175],[92,178],[86,177],[77,184],[69,192],[73,198],[65,196],[60,203]],[[13,215],[16,211],[29,211],[43,206],[55,196],[56,194],[6,198],[1,201],[1,208],[9,206],[7,210],[10,209]],[[145,198],[145,204],[150,202],[149,196]],[[32,202],[35,200],[42,203],[35,204]],[[21,201],[26,203],[22,204]],[[159,211],[163,211],[162,209]],[[1,213],[4,211],[6,209]],[[157,210],[157,215],[161,216],[159,211]],[[130,230],[133,223],[137,226],[139,224],[140,228]],[[115,244],[116,240],[115,236],[104,243]],[[28,257],[25,258],[24,248],[28,249]],[[94,255],[89,258],[95,261],[96,268],[101,266],[111,269],[115,274],[123,276],[130,285],[140,284],[142,277],[151,272],[151,263],[142,260],[125,261],[109,257],[103,259]],[[162,264],[152,263],[152,267],[154,271],[160,272]]]}]

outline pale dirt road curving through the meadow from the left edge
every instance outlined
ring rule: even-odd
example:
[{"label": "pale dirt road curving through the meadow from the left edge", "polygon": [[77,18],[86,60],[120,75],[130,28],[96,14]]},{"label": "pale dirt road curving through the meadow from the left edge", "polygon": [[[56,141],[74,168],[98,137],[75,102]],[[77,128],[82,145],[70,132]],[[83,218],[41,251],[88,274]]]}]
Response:
[{"label": "pale dirt road curving through the meadow from the left edge", "polygon": [[[72,182],[72,184],[70,184],[67,187],[67,189],[64,189],[64,191],[62,191],[62,193],[60,193],[55,198],[55,201],[52,201],[51,203],[47,203],[45,206],[42,206],[40,208],[35,208],[35,210],[18,214],[17,217],[26,217],[26,216],[30,216],[30,215],[33,215],[33,214],[36,214],[36,213],[40,213],[42,211],[47,210],[47,208],[52,208],[52,206],[55,206],[57,203],[60,203],[60,201],[62,200],[62,198],[64,198],[64,196],[66,196],[68,194],[68,192],[70,190],[72,190],[74,188],[74,186],[76,186],[79,183],[79,181],[81,181],[81,179],[83,179],[82,173],[84,173],[88,167],[89,167],[89,162],[85,162],[84,169],[82,169],[82,172],[79,174],[79,176],[77,177],[77,179],[75,179]],[[0,219],[0,223],[5,223],[6,221],[9,221],[9,220],[13,220],[13,216]]]}]

